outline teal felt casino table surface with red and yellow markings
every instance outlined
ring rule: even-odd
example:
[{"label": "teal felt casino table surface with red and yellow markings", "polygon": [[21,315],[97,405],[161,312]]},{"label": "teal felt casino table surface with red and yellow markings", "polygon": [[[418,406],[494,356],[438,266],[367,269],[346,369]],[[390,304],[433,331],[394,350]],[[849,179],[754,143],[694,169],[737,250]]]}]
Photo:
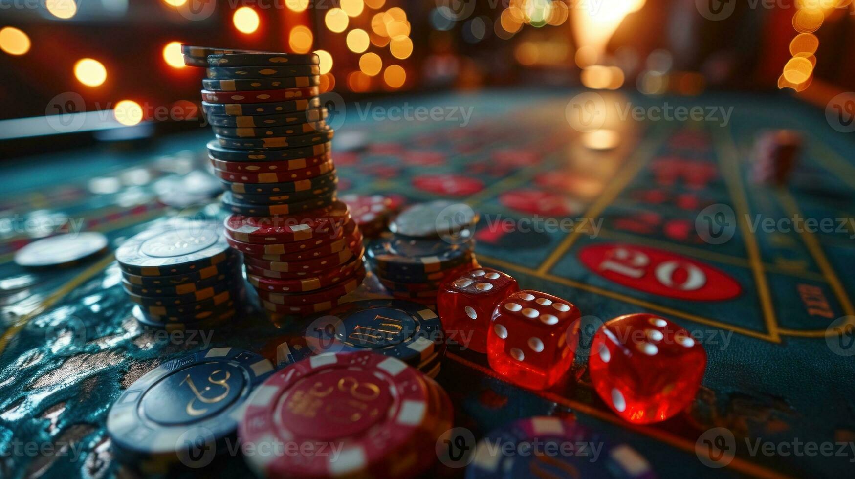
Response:
[{"label": "teal felt casino table surface with red and yellow markings", "polygon": [[[606,120],[616,132],[611,145],[569,125],[576,93],[435,94],[349,103],[339,111],[333,157],[341,192],[471,205],[481,214],[475,251],[482,265],[513,275],[524,289],[567,299],[584,315],[587,334],[573,367],[546,391],[503,381],[485,355],[451,344],[437,381],[451,396],[456,426],[477,438],[516,418],[569,417],[610,444],[631,446],[661,477],[851,471],[852,136],[835,133],[822,111],[781,95],[604,93],[617,112]],[[627,106],[650,111],[666,104],[732,108],[732,115],[667,121],[620,114]],[[442,115],[398,117],[390,107],[437,108]],[[462,109],[471,117],[463,118]],[[751,181],[753,139],[767,128],[804,135],[785,186]],[[157,195],[176,175],[207,168],[210,138],[202,127],[0,166],[0,278],[24,275],[28,283],[21,290],[0,281],[0,476],[130,476],[111,454],[104,423],[133,381],[205,346],[266,351],[302,325],[272,322],[250,299],[207,338],[170,337],[135,322],[109,252],[62,269],[24,269],[13,261],[33,238],[56,231],[101,232],[115,250],[152,222],[224,217],[215,198],[175,208]],[[834,228],[799,223],[825,218]],[[637,275],[603,268],[617,250],[650,261],[629,264]],[[351,295],[384,292],[369,275]],[[640,311],[678,322],[708,355],[692,405],[652,425],[616,417],[587,373],[586,346],[598,323]],[[805,443],[833,444],[834,452],[799,452]],[[215,476],[235,474],[249,474],[240,458]],[[463,476],[463,469],[437,466],[436,474]]]}]

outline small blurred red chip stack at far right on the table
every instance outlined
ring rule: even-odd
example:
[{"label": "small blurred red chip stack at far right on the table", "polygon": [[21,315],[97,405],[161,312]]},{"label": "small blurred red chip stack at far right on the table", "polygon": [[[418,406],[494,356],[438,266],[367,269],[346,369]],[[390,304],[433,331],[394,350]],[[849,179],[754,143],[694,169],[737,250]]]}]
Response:
[{"label": "small blurred red chip stack at far right on the table", "polygon": [[754,143],[752,180],[759,184],[783,185],[795,169],[801,144],[801,134],[793,130],[760,133]]}]

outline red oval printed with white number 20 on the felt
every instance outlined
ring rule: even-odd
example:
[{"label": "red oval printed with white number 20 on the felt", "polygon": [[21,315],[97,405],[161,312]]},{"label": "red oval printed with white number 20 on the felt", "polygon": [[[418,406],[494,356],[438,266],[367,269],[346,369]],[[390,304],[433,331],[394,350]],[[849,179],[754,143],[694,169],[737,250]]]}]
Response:
[{"label": "red oval printed with white number 20 on the felt", "polygon": [[722,301],[742,292],[740,284],[720,269],[647,246],[588,245],[576,256],[610,281],[667,298]]}]

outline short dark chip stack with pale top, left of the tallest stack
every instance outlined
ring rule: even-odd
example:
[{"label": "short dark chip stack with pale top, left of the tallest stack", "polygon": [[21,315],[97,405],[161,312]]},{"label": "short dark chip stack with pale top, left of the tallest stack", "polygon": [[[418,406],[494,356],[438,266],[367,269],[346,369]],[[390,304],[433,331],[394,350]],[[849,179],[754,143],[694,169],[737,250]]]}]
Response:
[{"label": "short dark chip stack with pale top, left of the tallest stack", "polygon": [[211,222],[169,222],[127,239],[115,251],[122,287],[146,327],[214,327],[243,299],[240,254]]}]

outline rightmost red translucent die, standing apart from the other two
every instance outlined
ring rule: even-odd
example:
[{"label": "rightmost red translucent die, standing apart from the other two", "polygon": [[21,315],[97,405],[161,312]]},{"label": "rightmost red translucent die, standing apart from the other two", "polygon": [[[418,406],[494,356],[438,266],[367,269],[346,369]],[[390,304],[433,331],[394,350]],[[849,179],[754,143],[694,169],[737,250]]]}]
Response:
[{"label": "rightmost red translucent die, standing apart from the other two", "polygon": [[630,423],[656,423],[692,402],[706,352],[674,322],[638,313],[599,328],[588,367],[599,397],[618,416]]}]

